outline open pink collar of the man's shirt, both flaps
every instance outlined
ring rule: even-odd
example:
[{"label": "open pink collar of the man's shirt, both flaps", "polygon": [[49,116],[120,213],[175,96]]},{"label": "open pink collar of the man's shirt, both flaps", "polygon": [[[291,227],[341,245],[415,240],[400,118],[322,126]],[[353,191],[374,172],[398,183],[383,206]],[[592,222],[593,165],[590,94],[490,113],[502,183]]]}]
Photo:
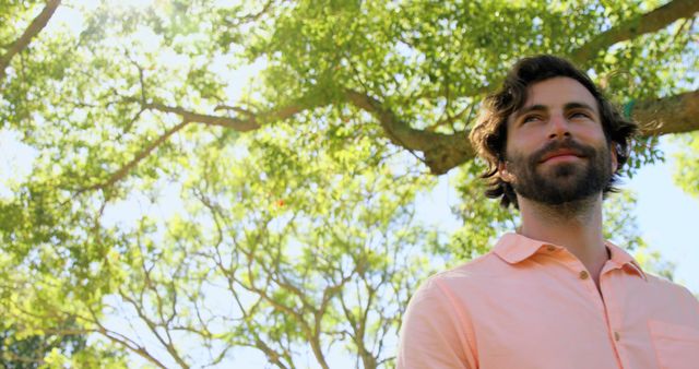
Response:
[{"label": "open pink collar of the man's shirt, both flaps", "polygon": [[[627,270],[635,272],[639,276],[643,278],[643,281],[648,281],[648,277],[638,262],[631,257],[626,250],[620,247],[605,241],[607,249],[609,250],[609,261],[616,264],[617,267],[626,267]],[[506,234],[503,235],[497,245],[494,248],[494,252],[500,257],[502,260],[507,261],[510,264],[517,264],[522,260],[529,259],[535,253],[542,251],[542,249],[546,250],[548,247],[562,248],[557,245],[535,240],[532,238],[524,237],[519,234]]]}]

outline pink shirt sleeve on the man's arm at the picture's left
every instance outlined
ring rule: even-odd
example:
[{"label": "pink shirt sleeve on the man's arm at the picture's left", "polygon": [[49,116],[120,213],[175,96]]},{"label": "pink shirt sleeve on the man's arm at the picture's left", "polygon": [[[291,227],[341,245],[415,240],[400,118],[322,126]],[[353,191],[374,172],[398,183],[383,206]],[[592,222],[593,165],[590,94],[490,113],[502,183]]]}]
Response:
[{"label": "pink shirt sleeve on the man's arm at the picture's left", "polygon": [[[428,279],[407,305],[396,369],[476,369],[467,359],[464,322],[435,279]],[[472,364],[470,365],[469,361]]]}]

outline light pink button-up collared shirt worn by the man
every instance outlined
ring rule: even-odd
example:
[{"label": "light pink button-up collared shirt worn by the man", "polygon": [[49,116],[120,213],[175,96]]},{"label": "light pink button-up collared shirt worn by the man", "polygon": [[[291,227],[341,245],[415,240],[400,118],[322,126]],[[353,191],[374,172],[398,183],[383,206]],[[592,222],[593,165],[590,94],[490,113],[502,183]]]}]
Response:
[{"label": "light pink button-up collared shirt worn by the man", "polygon": [[398,368],[698,369],[697,299],[607,249],[600,295],[567,249],[505,235],[415,293]]}]

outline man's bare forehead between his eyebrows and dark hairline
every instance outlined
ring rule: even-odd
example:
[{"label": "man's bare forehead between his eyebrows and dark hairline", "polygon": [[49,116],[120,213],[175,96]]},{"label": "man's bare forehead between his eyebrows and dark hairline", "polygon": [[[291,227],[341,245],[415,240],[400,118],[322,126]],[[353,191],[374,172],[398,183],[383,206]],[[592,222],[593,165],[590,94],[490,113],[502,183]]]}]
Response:
[{"label": "man's bare forehead between his eyebrows and dark hairline", "polygon": [[567,76],[556,76],[530,85],[522,108],[534,105],[557,108],[569,103],[583,103],[595,109],[595,112],[597,110],[597,102],[590,91],[580,82]]}]

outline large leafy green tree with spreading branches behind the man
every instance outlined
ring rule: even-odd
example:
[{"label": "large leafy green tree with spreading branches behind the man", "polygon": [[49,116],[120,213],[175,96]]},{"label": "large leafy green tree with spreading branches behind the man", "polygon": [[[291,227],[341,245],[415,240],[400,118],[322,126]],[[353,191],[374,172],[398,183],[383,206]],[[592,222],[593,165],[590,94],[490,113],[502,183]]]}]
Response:
[{"label": "large leafy green tree with spreading branches behind the man", "polygon": [[[390,367],[415,285],[516,222],[465,136],[522,55],[584,66],[642,123],[630,172],[699,128],[696,1],[81,7],[0,4],[0,122],[37,153],[0,198],[0,306],[156,367],[240,347]],[[451,169],[464,224],[445,234],[415,197]],[[611,205],[609,235],[642,250]]]}]

